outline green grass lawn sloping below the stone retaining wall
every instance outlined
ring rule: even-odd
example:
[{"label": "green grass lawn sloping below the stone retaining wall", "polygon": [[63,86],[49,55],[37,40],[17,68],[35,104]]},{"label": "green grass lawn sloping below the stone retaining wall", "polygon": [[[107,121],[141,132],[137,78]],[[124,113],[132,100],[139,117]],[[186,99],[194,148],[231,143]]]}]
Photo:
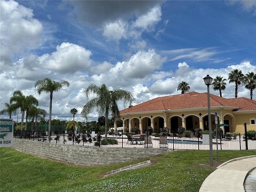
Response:
[{"label": "green grass lawn sloping below the stone retaining wall", "polygon": [[[219,160],[253,154],[256,150],[219,151]],[[5,147],[0,148],[0,155],[0,191],[5,192],[197,192],[216,170],[215,166],[198,166],[210,161],[209,151],[198,150],[97,167],[72,166]],[[153,165],[103,178],[106,172],[145,160]]]}]

